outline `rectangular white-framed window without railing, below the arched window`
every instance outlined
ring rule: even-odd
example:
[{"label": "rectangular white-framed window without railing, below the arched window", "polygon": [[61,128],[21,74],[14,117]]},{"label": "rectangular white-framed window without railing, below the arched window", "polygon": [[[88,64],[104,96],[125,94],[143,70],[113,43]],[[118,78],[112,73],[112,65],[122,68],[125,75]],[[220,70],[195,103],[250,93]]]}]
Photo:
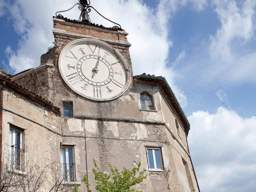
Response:
[{"label": "rectangular white-framed window without railing, below the arched window", "polygon": [[163,170],[162,154],[160,148],[146,148],[148,155],[148,170]]}]

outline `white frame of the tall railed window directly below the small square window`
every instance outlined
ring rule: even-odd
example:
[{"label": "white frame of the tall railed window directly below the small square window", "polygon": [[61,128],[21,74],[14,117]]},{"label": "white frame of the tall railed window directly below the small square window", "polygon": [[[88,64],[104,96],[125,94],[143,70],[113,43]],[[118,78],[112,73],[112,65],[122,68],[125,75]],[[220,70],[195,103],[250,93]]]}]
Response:
[{"label": "white frame of the tall railed window directly below the small square window", "polygon": [[[70,175],[68,174],[66,176],[66,179],[64,178],[64,163],[62,162],[62,149],[65,149],[65,160],[66,162],[69,162],[69,156],[68,156],[68,149],[72,149],[72,166],[73,166],[73,181],[70,181]],[[76,163],[75,163],[75,151],[74,151],[74,145],[63,145],[60,147],[60,164],[61,164],[61,177],[62,177],[62,183],[74,183],[76,182]],[[69,164],[69,163],[65,163]],[[66,173],[70,173],[70,166],[66,166]]]}]

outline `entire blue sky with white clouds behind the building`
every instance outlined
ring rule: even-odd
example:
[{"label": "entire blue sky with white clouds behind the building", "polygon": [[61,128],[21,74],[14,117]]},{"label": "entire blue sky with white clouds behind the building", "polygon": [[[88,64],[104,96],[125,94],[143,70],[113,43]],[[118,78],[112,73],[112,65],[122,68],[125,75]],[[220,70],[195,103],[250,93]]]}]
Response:
[{"label": "entire blue sky with white clouds behind the building", "polygon": [[[52,16],[74,3],[17,0],[10,6],[10,1],[0,1],[1,67],[14,74],[38,66],[40,55],[52,45]],[[129,33],[134,75],[146,72],[168,80],[190,120],[188,141],[202,191],[254,191],[256,2],[92,0],[92,4]],[[77,19],[78,14],[72,10],[64,16]],[[112,25],[94,13],[90,17]]]}]

